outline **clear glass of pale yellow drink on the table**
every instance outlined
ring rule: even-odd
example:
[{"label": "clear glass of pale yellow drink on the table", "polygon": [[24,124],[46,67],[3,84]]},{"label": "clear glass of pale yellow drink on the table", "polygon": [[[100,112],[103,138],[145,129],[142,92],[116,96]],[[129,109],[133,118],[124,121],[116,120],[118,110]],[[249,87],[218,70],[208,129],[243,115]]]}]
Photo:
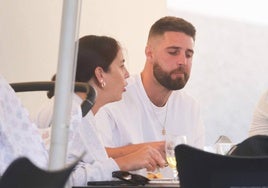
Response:
[{"label": "clear glass of pale yellow drink on the table", "polygon": [[177,161],[175,158],[175,147],[179,144],[186,144],[185,135],[166,135],[166,159],[173,171],[173,180],[178,181]]}]

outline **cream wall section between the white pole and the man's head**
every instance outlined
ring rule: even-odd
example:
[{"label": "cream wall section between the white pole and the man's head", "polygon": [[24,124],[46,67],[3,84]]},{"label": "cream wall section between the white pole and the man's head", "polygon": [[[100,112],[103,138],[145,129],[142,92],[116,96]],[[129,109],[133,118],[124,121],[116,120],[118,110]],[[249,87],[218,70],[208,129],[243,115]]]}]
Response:
[{"label": "cream wall section between the white pole and the man's head", "polygon": [[166,0],[84,0],[80,36],[115,37],[127,50],[129,71],[140,72],[148,31],[153,22],[166,14]]}]

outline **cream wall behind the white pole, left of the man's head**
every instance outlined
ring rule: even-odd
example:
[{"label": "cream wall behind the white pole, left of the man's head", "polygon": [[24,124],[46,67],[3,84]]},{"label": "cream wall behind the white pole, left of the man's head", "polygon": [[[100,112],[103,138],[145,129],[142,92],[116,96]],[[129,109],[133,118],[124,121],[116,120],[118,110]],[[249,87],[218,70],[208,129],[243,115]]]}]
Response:
[{"label": "cream wall behind the white pole, left of the man's head", "polygon": [[[0,73],[9,82],[46,81],[56,72],[62,0],[0,0]],[[165,0],[83,0],[79,36],[109,35],[127,50],[130,73],[144,64],[149,27]],[[34,114],[45,92],[18,93]]]}]

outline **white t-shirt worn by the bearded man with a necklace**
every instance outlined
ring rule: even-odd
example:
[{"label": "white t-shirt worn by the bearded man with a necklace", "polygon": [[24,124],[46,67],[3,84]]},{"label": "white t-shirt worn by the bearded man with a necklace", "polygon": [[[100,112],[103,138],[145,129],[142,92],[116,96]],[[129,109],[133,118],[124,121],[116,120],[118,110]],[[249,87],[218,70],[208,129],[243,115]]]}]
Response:
[{"label": "white t-shirt worn by the bearded man with a necklace", "polygon": [[162,134],[165,126],[167,134],[185,135],[189,145],[203,149],[204,126],[200,108],[190,95],[183,90],[173,91],[163,107],[166,109],[162,118],[155,108],[146,95],[141,76],[130,77],[123,99],[105,105],[95,115],[105,146],[165,140]]}]

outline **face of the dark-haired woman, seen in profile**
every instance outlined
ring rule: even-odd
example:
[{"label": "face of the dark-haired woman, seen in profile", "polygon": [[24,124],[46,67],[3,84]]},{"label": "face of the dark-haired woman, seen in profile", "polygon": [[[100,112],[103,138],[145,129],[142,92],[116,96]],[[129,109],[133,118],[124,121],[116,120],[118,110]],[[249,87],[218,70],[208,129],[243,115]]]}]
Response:
[{"label": "face of the dark-haired woman, seen in profile", "polygon": [[122,50],[119,50],[106,75],[105,92],[109,95],[110,102],[121,100],[122,93],[126,91],[129,73],[125,67],[125,59]]}]

